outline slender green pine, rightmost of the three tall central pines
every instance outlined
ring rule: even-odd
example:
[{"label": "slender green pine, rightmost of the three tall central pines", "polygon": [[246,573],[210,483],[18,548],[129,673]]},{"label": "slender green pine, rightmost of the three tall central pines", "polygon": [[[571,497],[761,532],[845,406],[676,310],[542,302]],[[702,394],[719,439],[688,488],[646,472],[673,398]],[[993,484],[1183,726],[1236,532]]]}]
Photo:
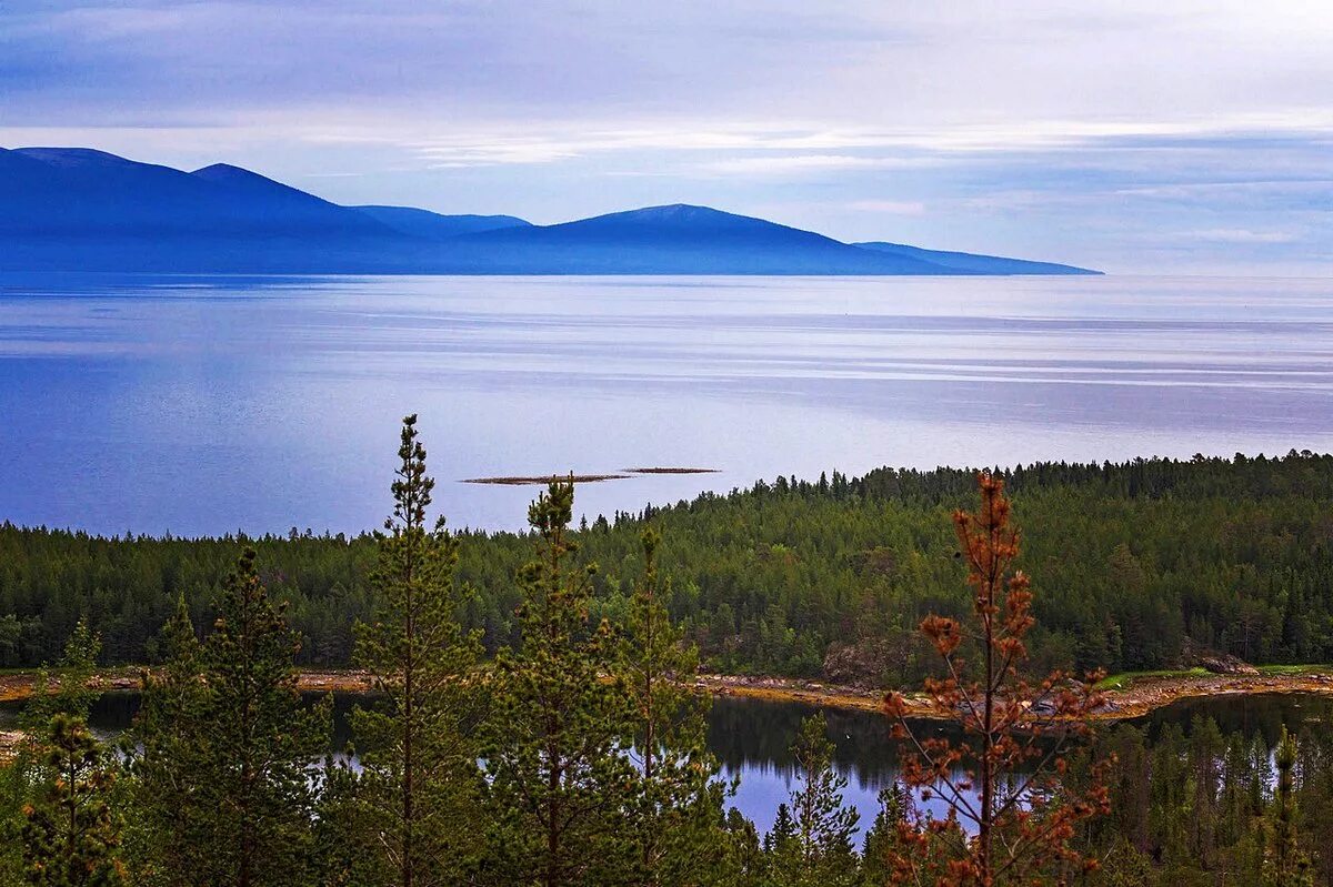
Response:
[{"label": "slender green pine, rightmost of the three tall central pines", "polygon": [[660,537],[644,530],[644,574],[635,586],[620,638],[620,682],[631,705],[639,759],[639,882],[696,884],[714,876],[725,858],[722,804],[728,787],[705,742],[708,697],[685,685],[698,653],[673,626],[657,575]]}]

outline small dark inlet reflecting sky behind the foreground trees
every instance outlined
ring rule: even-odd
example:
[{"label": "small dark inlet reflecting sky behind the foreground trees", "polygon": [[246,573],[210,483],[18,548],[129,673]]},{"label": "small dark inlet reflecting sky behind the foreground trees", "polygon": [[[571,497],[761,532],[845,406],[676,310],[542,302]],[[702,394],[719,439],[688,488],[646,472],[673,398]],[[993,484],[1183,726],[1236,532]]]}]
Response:
[{"label": "small dark inlet reflecting sky behind the foreground trees", "polygon": [[[348,713],[365,697],[335,697],[335,747],[349,738]],[[129,726],[139,698],[135,694],[107,694],[93,706],[92,725],[103,737]],[[0,726],[12,723],[16,706],[0,706]],[[733,804],[760,831],[773,823],[777,804],[786,800],[796,786],[792,755],[788,751],[801,722],[818,709],[797,703],[718,697],[709,713],[708,744],[721,760],[726,775],[740,776]],[[896,743],[889,737],[888,721],[865,711],[825,710],[829,738],[833,740],[834,764],[846,776],[846,803],[861,812],[862,832],[874,820],[878,792],[892,784],[897,772]],[[1222,695],[1186,699],[1165,706],[1132,723],[1149,730],[1152,738],[1166,725],[1178,725],[1186,735],[1196,715],[1217,721],[1224,733],[1241,731],[1260,735],[1272,747],[1281,727],[1300,731],[1305,726],[1333,725],[1333,698],[1309,694]]]}]

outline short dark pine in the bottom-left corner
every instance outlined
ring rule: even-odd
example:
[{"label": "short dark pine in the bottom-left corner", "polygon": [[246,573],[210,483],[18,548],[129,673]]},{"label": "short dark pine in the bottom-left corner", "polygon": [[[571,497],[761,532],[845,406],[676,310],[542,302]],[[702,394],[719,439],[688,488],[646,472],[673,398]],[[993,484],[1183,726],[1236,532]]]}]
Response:
[{"label": "short dark pine in the bottom-left corner", "polygon": [[41,887],[119,887],[120,820],[112,812],[115,768],[83,721],[57,713],[45,735],[52,778],[24,810],[27,880]]}]

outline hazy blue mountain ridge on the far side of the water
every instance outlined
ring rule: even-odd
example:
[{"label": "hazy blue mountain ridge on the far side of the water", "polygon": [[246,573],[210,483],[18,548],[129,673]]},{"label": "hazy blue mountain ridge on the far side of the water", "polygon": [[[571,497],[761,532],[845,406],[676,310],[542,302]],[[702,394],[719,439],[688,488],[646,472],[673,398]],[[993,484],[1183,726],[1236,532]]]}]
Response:
[{"label": "hazy blue mountain ridge on the far side of the water", "polygon": [[0,270],[415,274],[1073,274],[1069,265],[844,244],[708,206],[557,225],[340,206],[229,164],[0,148]]}]

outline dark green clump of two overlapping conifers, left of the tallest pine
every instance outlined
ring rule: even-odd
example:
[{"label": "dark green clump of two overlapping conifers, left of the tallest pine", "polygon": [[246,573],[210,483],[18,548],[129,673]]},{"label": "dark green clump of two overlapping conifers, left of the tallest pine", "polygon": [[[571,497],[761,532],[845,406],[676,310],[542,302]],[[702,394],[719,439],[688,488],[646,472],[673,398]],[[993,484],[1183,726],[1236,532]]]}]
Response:
[{"label": "dark green clump of two overlapping conifers, left of the tallest pine", "polygon": [[[329,707],[301,702],[292,666],[299,639],[260,582],[253,551],[241,555],[216,610],[197,651],[184,614],[168,629],[175,655],[155,709],[136,726],[153,755],[149,786],[179,778],[183,790],[175,824],[157,842],[155,875],[169,884],[307,884]],[[163,754],[180,756],[173,764]]]}]

